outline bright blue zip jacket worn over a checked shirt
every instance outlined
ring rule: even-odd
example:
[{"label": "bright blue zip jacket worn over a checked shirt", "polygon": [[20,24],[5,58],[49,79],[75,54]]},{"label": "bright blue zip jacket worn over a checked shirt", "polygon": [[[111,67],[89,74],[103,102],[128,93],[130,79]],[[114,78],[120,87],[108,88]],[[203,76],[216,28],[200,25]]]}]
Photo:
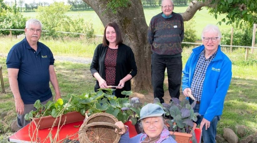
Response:
[{"label": "bright blue zip jacket worn over a checked shirt", "polygon": [[[183,69],[182,91],[190,88],[194,76],[197,60],[204,45],[194,48]],[[221,115],[226,93],[232,77],[232,63],[221,51],[219,45],[215,58],[206,69],[201,95],[199,113],[208,121],[214,116]]]}]

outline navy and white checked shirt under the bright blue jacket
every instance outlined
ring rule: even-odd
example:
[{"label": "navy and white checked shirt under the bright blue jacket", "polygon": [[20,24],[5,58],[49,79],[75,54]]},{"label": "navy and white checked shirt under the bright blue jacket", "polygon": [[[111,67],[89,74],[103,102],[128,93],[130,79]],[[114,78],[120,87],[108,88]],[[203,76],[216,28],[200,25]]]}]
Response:
[{"label": "navy and white checked shirt under the bright blue jacket", "polygon": [[208,59],[205,58],[205,50],[200,53],[199,59],[196,64],[194,77],[191,84],[192,95],[196,98],[196,101],[201,101],[203,82],[205,79],[205,73],[208,65],[216,56],[217,51],[211,55]]}]

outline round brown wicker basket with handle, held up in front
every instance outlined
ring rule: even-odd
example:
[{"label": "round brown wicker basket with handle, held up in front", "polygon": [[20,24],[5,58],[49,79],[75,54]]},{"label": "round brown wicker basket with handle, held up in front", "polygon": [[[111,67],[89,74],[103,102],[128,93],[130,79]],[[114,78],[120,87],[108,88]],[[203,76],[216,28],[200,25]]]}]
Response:
[{"label": "round brown wicker basket with handle, held up in front", "polygon": [[81,143],[118,143],[120,129],[114,125],[118,119],[108,113],[96,113],[86,119],[79,131]]}]

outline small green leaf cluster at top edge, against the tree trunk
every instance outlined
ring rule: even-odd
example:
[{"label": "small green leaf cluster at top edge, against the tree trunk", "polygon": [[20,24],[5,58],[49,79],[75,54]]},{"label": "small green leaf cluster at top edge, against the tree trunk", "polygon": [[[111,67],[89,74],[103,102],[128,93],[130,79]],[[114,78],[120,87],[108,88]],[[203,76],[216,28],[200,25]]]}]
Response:
[{"label": "small green leaf cluster at top edge, against the tree trunk", "polygon": [[110,9],[114,14],[116,14],[117,8],[119,7],[128,7],[131,4],[129,0],[110,0],[107,3],[107,8]]}]

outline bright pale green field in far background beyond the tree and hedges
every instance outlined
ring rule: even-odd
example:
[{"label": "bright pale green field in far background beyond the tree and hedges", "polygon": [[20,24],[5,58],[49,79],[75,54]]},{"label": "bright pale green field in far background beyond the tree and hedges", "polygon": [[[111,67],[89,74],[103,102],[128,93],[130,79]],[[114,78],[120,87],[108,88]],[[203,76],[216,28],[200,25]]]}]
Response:
[{"label": "bright pale green field in far background beyond the tree and hedges", "polygon": [[[174,12],[182,13],[182,12],[186,11],[186,9],[187,9],[187,6],[175,6]],[[161,12],[161,7],[145,8],[144,14],[145,14],[145,19],[146,19],[147,25],[149,25],[151,18],[160,12]],[[22,12],[22,14],[25,17],[35,18],[37,13],[36,12]],[[97,14],[95,13],[95,11],[68,11],[66,14],[67,14],[67,16],[70,16],[72,18],[82,17],[85,19],[85,21],[92,21],[96,34],[103,35],[104,26],[103,26],[101,20],[99,19],[99,17],[97,16]],[[200,38],[201,31],[202,31],[203,27],[205,27],[207,24],[216,25],[217,22],[223,18],[225,18],[225,15],[218,16],[218,19],[216,20],[214,18],[214,16],[211,16],[208,13],[208,10],[206,8],[203,8],[201,11],[197,11],[194,16],[194,20],[196,22],[195,30],[197,31],[197,37]],[[220,30],[231,28],[230,25],[225,25],[225,23],[222,23],[221,26],[220,25],[218,25],[218,26],[219,26]]]}]

